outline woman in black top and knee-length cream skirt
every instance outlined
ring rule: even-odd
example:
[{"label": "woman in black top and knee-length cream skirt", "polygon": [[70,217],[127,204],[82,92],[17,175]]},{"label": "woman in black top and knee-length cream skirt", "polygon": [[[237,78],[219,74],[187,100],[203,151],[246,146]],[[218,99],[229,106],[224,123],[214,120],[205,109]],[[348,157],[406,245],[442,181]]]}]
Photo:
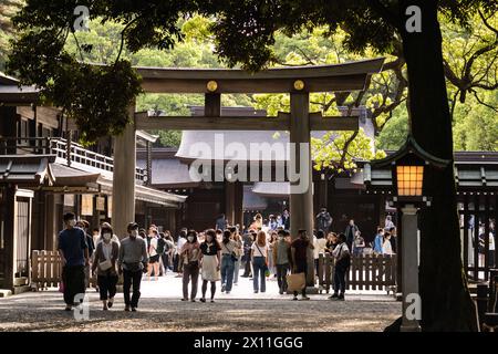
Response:
[{"label": "woman in black top and knee-length cream skirt", "polygon": [[211,283],[211,302],[215,302],[216,282],[220,280],[221,246],[216,240],[216,232],[212,229],[206,231],[206,240],[200,243],[200,267],[203,278],[203,298],[200,302],[206,302],[208,282]]}]

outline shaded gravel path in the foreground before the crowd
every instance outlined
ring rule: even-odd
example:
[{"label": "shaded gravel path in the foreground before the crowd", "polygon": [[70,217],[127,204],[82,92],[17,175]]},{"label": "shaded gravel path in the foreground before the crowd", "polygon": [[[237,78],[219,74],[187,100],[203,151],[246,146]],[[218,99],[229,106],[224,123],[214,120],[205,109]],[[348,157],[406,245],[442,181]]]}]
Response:
[{"label": "shaded gravel path in the foreground before the crowd", "polygon": [[0,331],[382,331],[401,313],[401,303],[385,299],[344,302],[313,295],[311,301],[218,299],[216,303],[181,302],[178,298],[141,299],[138,312],[124,312],[116,295],[111,311],[102,311],[90,292],[90,315],[76,321],[63,311],[56,291],[0,299]]}]

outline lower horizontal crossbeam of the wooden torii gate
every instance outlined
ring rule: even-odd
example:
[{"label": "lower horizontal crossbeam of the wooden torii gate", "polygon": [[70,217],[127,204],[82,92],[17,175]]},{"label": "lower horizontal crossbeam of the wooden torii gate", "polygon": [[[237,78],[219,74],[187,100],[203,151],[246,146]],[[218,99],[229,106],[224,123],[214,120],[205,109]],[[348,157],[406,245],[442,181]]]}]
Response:
[{"label": "lower horizontal crossbeam of the wooden torii gate", "polygon": [[[147,112],[135,114],[136,128],[169,131],[290,131],[289,113],[277,117],[255,116],[149,116]],[[312,131],[357,131],[359,117],[310,114]]]}]

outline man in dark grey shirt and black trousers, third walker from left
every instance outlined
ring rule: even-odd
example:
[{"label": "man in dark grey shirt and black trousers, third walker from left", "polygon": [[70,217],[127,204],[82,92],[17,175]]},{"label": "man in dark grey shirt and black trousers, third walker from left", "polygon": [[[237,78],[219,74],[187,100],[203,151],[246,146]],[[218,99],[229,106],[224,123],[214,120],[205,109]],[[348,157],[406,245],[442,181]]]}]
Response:
[{"label": "man in dark grey shirt and black trousers, third walker from left", "polygon": [[[123,295],[125,311],[136,311],[141,298],[142,274],[147,270],[148,254],[146,241],[138,236],[138,223],[129,222],[127,237],[121,242],[117,269],[123,273]],[[132,299],[129,289],[133,285]]]}]

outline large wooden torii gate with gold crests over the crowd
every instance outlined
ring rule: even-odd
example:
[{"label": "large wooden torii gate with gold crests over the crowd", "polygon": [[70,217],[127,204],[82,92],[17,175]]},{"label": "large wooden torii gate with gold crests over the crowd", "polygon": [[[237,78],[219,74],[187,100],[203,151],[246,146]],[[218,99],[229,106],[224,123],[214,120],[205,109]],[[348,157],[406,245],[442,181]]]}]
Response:
[{"label": "large wooden torii gate with gold crests over the crowd", "polygon": [[[311,131],[357,131],[357,117],[323,117],[309,112],[311,92],[350,93],[365,88],[367,77],[378,73],[384,59],[349,62],[336,65],[292,66],[269,69],[258,73],[225,69],[159,69],[137,67],[146,93],[205,94],[205,116],[149,116],[136,113],[134,124],[116,136],[114,145],[113,226],[120,237],[135,217],[135,132],[136,129],[177,131],[288,131],[290,143],[295,143],[295,166],[299,166],[300,144],[310,143]],[[221,116],[221,94],[228,93],[289,93],[290,114],[277,117]],[[344,97],[347,96],[343,95]],[[292,154],[291,154],[292,155]],[[308,156],[308,174],[311,184],[312,162]],[[312,188],[290,195],[291,233],[298,229],[313,229]],[[312,263],[309,262],[313,280]]]}]

